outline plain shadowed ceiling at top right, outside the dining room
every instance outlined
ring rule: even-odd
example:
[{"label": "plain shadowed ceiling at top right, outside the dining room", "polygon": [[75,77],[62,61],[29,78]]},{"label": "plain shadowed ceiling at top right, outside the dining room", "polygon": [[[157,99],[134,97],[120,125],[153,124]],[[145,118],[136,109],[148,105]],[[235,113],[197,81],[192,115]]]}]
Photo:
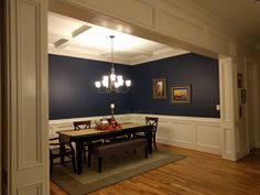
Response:
[{"label": "plain shadowed ceiling at top right, outside the dining room", "polygon": [[230,26],[243,41],[260,48],[260,1],[192,0]]}]

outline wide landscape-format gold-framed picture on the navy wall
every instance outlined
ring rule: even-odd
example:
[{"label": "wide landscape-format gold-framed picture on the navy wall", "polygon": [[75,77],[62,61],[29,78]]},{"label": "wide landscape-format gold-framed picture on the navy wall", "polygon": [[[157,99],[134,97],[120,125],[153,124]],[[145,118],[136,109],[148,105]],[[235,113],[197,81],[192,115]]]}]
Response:
[{"label": "wide landscape-format gold-framed picture on the navy wall", "polygon": [[191,85],[180,85],[172,87],[173,104],[191,104]]}]

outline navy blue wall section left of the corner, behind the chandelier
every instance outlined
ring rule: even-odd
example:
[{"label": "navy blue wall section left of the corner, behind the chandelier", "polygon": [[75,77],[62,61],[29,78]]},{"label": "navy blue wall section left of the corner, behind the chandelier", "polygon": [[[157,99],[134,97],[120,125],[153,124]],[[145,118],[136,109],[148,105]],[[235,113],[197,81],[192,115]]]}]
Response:
[{"label": "navy blue wall section left of the corner, behind the chandelier", "polygon": [[[99,94],[95,80],[110,73],[111,64],[59,55],[48,55],[50,119],[132,112],[131,91]],[[116,73],[131,78],[131,67],[115,64]]]}]

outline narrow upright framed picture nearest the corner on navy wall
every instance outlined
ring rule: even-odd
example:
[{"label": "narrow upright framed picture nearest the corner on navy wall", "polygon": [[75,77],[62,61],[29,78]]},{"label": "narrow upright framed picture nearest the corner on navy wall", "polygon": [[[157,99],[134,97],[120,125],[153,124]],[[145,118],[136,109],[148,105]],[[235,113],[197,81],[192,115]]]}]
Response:
[{"label": "narrow upright framed picture nearest the corner on navy wall", "polygon": [[153,98],[165,99],[166,98],[166,78],[153,79]]}]

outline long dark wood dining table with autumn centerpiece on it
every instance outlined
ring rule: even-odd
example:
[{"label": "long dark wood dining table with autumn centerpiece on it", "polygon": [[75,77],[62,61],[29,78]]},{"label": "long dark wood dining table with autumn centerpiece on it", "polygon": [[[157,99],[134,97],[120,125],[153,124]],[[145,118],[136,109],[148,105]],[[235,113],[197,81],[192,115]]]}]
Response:
[{"label": "long dark wood dining table with autumn centerpiece on it", "polygon": [[149,153],[152,153],[152,126],[141,124],[141,123],[121,123],[120,129],[115,130],[96,130],[96,129],[84,129],[84,130],[68,130],[61,131],[61,139],[69,139],[72,142],[76,143],[76,160],[77,160],[77,174],[83,173],[83,152],[84,142],[93,142],[100,139],[109,139],[121,136],[130,136],[138,132],[144,132],[148,140]]}]

